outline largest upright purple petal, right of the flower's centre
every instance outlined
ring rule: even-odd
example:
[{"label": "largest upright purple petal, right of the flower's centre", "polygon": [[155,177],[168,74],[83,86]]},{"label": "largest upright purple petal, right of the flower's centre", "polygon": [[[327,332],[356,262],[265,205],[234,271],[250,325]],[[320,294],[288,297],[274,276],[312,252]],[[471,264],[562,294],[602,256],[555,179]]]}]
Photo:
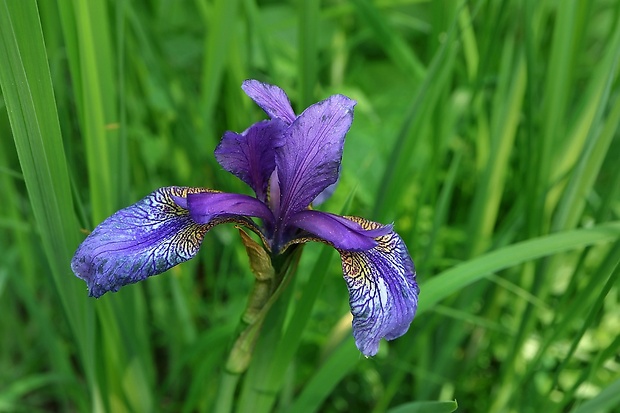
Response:
[{"label": "largest upright purple petal, right of the flower's centre", "polygon": [[354,106],[346,96],[331,96],[306,109],[285,131],[276,148],[280,215],[285,222],[338,180]]}]

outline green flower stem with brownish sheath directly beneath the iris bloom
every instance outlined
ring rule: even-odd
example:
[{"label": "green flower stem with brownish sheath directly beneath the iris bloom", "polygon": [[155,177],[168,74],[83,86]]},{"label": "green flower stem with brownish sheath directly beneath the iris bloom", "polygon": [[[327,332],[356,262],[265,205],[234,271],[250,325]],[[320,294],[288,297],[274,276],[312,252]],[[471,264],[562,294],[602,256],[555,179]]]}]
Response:
[{"label": "green flower stem with brownish sheath directly beneath the iris bloom", "polygon": [[241,238],[246,246],[250,267],[256,276],[254,288],[248,298],[248,306],[241,318],[239,333],[226,361],[214,412],[229,413],[241,375],[248,369],[254,347],[271,306],[288,285],[297,270],[302,247],[292,246],[284,254],[273,259],[244,231]]}]

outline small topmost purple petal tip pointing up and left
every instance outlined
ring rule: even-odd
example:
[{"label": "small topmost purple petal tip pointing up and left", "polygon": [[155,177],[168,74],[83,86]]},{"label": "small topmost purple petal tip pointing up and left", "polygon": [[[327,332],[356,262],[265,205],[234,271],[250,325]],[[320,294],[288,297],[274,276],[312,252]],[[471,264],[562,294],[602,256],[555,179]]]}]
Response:
[{"label": "small topmost purple petal tip pointing up and left", "polygon": [[295,112],[286,93],[277,86],[258,80],[246,80],[241,89],[252,98],[271,118],[278,118],[287,124],[295,120]]}]

